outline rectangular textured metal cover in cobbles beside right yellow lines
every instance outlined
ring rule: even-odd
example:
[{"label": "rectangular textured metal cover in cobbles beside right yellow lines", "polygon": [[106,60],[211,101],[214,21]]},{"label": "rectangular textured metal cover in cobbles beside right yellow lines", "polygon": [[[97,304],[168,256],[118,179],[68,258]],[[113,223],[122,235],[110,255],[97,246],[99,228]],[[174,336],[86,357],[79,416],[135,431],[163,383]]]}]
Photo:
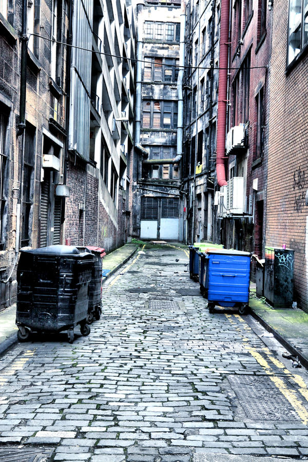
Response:
[{"label": "rectangular textured metal cover in cobbles beside right yellow lines", "polygon": [[253,420],[299,420],[299,416],[291,404],[269,377],[231,375],[228,380],[248,418]]}]

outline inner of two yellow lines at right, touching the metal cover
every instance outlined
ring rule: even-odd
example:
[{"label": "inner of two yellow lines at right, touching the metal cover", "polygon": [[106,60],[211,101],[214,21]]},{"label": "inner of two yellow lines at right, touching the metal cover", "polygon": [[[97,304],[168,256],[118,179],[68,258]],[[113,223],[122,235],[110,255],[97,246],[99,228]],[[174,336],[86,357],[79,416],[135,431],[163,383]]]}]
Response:
[{"label": "inner of two yellow lines at right, touching the metal cover", "polygon": [[[273,374],[273,371],[267,361],[260,355],[254,348],[251,348],[247,345],[247,350],[252,354],[252,356],[258,361],[260,366],[264,368],[265,373],[269,376],[272,380],[273,384],[278,388],[278,390],[283,394],[283,396],[288,400],[291,404],[299,418],[301,419],[302,423],[306,425],[308,423],[308,411],[303,407],[300,403],[298,398],[296,397],[296,391],[291,390],[287,387],[284,381]],[[278,397],[277,397],[278,399]]]}]

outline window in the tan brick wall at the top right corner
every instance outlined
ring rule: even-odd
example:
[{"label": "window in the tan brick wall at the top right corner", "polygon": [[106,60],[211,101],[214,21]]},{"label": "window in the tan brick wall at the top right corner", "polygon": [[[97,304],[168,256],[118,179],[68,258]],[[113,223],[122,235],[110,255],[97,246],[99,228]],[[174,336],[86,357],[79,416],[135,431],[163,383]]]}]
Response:
[{"label": "window in the tan brick wall at the top right corner", "polygon": [[308,0],[290,0],[287,64],[308,44]]}]

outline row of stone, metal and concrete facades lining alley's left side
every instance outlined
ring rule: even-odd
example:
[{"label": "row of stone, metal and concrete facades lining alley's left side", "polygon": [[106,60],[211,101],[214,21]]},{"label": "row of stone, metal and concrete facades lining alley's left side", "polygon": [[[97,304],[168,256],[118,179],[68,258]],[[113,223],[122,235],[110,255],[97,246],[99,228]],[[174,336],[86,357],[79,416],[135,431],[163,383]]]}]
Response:
[{"label": "row of stone, metal and concrete facades lining alley's left side", "polygon": [[134,36],[129,1],[0,3],[0,309],[20,249],[126,242]]}]

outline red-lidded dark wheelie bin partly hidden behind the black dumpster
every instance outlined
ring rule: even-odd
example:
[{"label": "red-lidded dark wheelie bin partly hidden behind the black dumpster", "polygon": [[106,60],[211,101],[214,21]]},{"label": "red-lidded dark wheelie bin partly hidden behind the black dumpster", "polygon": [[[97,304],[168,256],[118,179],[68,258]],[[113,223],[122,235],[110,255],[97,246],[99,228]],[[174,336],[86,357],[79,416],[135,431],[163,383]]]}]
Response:
[{"label": "red-lidded dark wheelie bin partly hidden behind the black dumpster", "polygon": [[93,318],[98,320],[102,314],[102,258],[106,255],[106,252],[105,249],[94,246],[78,246],[78,249],[91,252],[94,256],[92,275],[89,282],[89,306],[87,317],[88,322],[91,323]]}]

